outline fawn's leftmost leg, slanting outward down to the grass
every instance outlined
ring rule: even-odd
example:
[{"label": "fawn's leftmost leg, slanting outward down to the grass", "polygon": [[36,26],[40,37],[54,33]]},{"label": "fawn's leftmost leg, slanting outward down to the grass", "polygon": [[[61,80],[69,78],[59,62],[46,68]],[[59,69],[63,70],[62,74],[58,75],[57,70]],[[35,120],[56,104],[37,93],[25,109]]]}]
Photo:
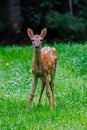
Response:
[{"label": "fawn's leftmost leg, slanting outward down to the grass", "polygon": [[35,93],[35,90],[37,87],[37,81],[38,81],[38,78],[36,76],[34,76],[33,82],[32,82],[32,90],[31,90],[31,94],[30,94],[30,99],[28,102],[28,110],[30,109],[31,102],[32,102],[33,97],[34,97],[34,93]]}]

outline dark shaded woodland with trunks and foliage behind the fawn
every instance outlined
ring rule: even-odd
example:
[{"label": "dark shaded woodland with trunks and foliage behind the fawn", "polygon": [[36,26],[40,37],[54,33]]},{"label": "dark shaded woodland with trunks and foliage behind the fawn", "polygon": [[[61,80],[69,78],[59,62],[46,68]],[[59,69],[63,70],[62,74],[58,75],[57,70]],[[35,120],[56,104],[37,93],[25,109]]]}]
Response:
[{"label": "dark shaded woodland with trunks and foliage behind the fawn", "polygon": [[87,0],[1,0],[0,45],[27,44],[27,28],[48,41],[87,40]]}]

